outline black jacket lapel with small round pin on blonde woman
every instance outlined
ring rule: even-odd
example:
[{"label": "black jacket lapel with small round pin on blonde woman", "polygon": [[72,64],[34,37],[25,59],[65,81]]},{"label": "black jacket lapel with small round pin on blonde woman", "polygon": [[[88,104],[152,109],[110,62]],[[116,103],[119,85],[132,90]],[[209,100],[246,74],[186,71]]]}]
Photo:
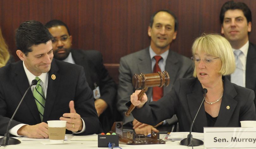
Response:
[{"label": "black jacket lapel with small round pin on blonde woman", "polygon": [[[224,77],[224,92],[221,101],[220,111],[218,118],[215,122],[214,127],[225,127],[230,122],[230,118],[233,115],[235,107],[237,105],[237,101],[234,100],[237,92],[235,91],[234,86],[228,80],[228,78]],[[230,108],[227,109],[227,106]]]}]

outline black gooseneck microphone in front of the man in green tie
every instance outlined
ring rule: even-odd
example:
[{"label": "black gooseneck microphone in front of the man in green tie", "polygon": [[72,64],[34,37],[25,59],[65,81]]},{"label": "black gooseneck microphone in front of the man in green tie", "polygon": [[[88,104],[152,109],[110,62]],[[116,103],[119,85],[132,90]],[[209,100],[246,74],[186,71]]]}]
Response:
[{"label": "black gooseneck microphone in front of the man in green tie", "polygon": [[[37,80],[32,80],[31,85],[27,88],[27,91],[30,89],[31,86],[36,85],[36,84],[37,84]],[[6,133],[4,134],[4,137],[0,138],[0,145],[1,146],[15,145],[15,144],[20,144],[21,143],[20,140],[15,139],[15,138],[11,138],[8,131],[9,131],[9,126],[11,124],[11,121],[12,121],[13,117],[15,116],[17,110],[19,109],[22,100],[24,99],[25,95],[27,94],[27,91],[25,92],[25,94],[21,98],[21,101],[20,101],[19,105],[17,106],[15,112],[13,113],[12,118],[10,119],[9,124],[7,126],[7,130],[6,130]]]}]

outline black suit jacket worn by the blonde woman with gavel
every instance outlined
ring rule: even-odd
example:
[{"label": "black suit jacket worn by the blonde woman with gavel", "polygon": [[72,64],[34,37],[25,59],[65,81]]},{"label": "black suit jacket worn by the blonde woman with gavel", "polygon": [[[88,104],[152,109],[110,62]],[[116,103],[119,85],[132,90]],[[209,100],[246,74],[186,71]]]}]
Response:
[{"label": "black suit jacket worn by the blonde woman with gavel", "polygon": [[[219,115],[214,127],[241,127],[240,121],[256,120],[253,104],[254,92],[237,86],[224,79],[224,92]],[[197,78],[184,78],[177,81],[171,92],[156,102],[146,103],[142,108],[135,108],[133,116],[140,122],[150,125],[177,115],[180,131],[189,131],[190,125],[203,100],[202,85]],[[127,103],[129,106],[131,102]],[[230,109],[227,108],[230,107]],[[147,113],[147,114],[144,114]],[[193,125],[193,132],[203,132],[207,127],[204,104],[198,112]]]}]

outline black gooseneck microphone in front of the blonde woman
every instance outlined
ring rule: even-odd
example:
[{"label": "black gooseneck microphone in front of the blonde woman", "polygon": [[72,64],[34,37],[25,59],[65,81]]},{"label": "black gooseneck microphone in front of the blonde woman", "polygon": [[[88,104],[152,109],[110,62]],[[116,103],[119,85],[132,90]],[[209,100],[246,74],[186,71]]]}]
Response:
[{"label": "black gooseneck microphone in front of the blonde woman", "polygon": [[[198,108],[197,114],[198,114],[198,112],[199,112],[199,110],[200,110],[202,104],[204,103],[204,99],[205,99],[205,97],[206,97],[207,89],[206,89],[206,88],[203,88],[202,92],[204,93],[204,98],[203,98],[203,101],[202,101],[200,107]],[[194,122],[195,122],[195,119],[196,119],[196,117],[197,117],[197,114],[196,114],[196,116],[195,116],[195,118],[194,118],[192,124],[190,125],[190,131],[189,131],[189,134],[187,135],[187,138],[181,140],[181,141],[180,141],[180,145],[183,145],[183,146],[200,146],[200,145],[203,145],[203,144],[204,144],[204,142],[203,142],[202,140],[193,138],[193,136],[192,136],[192,134],[191,134],[191,132],[192,132],[192,126],[193,126],[193,124],[194,124]]]}]

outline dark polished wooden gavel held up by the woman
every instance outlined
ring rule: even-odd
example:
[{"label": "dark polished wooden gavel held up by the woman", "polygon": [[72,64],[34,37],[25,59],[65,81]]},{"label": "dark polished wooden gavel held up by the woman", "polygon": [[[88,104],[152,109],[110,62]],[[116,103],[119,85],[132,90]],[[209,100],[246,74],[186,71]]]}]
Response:
[{"label": "dark polished wooden gavel held up by the woman", "polygon": [[[138,94],[138,100],[141,100],[144,93],[147,92],[148,87],[155,87],[155,86],[168,86],[170,83],[170,77],[167,71],[152,73],[152,74],[135,74],[132,77],[132,84],[136,90],[142,89]],[[130,116],[131,111],[136,106],[131,104],[129,109],[125,112],[125,116]]]}]

